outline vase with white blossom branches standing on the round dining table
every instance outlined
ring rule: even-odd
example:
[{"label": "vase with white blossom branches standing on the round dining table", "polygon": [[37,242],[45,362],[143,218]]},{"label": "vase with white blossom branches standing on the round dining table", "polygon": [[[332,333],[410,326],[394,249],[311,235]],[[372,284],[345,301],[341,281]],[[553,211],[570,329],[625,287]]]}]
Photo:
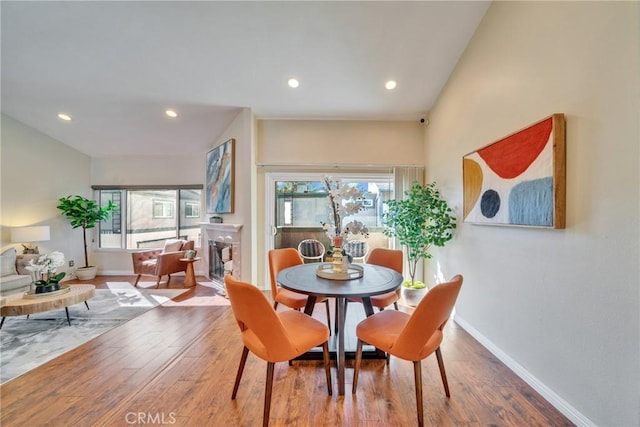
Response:
[{"label": "vase with white blossom branches standing on the round dining table", "polygon": [[349,254],[344,245],[350,236],[363,235],[369,237],[369,229],[361,221],[352,220],[342,224],[347,216],[355,215],[365,208],[362,190],[353,185],[342,184],[331,177],[323,178],[329,202],[329,222],[321,222],[322,228],[331,240],[331,249],[327,255],[333,257],[333,270],[346,272],[349,265]]}]

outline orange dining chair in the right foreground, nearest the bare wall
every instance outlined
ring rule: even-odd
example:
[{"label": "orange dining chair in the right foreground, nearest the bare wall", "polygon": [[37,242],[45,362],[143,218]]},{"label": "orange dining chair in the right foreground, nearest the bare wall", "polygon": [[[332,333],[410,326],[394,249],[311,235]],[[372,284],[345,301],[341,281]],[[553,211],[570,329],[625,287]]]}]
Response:
[{"label": "orange dining chair in the right foreground, nearest the bare wall", "polygon": [[440,343],[442,342],[442,330],[449,320],[451,311],[453,311],[461,287],[462,276],[456,275],[451,281],[430,289],[412,314],[385,310],[360,322],[356,327],[358,346],[352,393],[356,392],[358,385],[363,344],[373,345],[400,359],[410,360],[413,362],[416,384],[418,425],[423,426],[421,361],[435,351],[444,392],[447,397],[450,397]]}]

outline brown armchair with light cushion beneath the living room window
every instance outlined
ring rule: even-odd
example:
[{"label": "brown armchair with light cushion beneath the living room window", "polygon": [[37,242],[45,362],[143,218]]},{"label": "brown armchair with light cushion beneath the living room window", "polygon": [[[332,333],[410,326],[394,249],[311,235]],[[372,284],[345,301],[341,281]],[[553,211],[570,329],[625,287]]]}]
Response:
[{"label": "brown armchair with light cushion beneath the living room window", "polygon": [[185,251],[193,250],[194,247],[193,240],[171,239],[166,241],[163,249],[132,253],[133,272],[138,275],[134,286],[138,286],[143,274],[156,277],[156,288],[160,286],[162,276],[167,275],[167,285],[169,285],[173,273],[187,270],[187,263],[180,261],[180,258],[184,258]]}]

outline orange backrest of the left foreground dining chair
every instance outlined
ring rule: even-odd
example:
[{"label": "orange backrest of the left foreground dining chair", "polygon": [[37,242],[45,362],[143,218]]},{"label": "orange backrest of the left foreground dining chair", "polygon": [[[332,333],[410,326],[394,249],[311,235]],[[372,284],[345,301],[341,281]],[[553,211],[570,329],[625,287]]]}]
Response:
[{"label": "orange backrest of the left foreground dining chair", "polygon": [[224,277],[224,283],[231,309],[242,331],[244,345],[269,362],[289,360],[296,349],[262,291],[250,283],[236,280],[230,274]]}]

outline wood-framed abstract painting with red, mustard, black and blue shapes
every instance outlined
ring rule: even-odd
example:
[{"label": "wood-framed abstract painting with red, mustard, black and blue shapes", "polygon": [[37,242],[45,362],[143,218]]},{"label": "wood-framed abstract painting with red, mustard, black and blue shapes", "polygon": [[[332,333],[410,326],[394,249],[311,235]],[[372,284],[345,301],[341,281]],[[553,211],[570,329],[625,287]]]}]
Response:
[{"label": "wood-framed abstract painting with red, mustard, black and blue shapes", "polygon": [[463,157],[464,221],[565,227],[565,120],[553,114]]}]

